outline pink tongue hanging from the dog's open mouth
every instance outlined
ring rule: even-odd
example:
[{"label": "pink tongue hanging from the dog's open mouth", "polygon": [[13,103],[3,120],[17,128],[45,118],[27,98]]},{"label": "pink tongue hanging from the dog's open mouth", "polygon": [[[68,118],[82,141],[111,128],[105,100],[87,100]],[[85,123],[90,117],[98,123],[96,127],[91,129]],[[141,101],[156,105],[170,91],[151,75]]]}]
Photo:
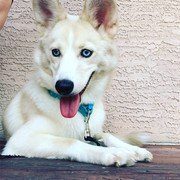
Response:
[{"label": "pink tongue hanging from the dog's open mouth", "polygon": [[60,100],[60,111],[65,118],[73,118],[79,109],[80,95],[63,97]]}]

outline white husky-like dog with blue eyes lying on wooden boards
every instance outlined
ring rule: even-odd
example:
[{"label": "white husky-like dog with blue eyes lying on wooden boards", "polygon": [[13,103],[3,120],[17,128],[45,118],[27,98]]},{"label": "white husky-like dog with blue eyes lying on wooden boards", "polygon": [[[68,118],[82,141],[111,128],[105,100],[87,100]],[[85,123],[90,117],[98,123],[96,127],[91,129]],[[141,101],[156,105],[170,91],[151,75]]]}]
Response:
[{"label": "white husky-like dog with blue eyes lying on wooden boards", "polygon": [[81,16],[58,0],[33,0],[40,40],[37,71],[8,106],[2,155],[70,159],[110,166],[152,154],[103,133],[103,94],[117,65],[114,0],[87,0]]}]

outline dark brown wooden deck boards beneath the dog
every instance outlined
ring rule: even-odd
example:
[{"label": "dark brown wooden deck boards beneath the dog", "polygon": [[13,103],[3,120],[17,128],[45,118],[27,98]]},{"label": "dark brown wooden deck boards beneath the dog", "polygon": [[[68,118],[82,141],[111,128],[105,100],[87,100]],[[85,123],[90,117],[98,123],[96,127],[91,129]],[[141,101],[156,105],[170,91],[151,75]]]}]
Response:
[{"label": "dark brown wooden deck boards beneath the dog", "polygon": [[[0,142],[0,149],[4,146]],[[148,146],[154,155],[152,163],[137,163],[134,167],[104,167],[99,165],[24,157],[0,156],[2,179],[90,179],[90,180],[180,180],[180,146]]]}]

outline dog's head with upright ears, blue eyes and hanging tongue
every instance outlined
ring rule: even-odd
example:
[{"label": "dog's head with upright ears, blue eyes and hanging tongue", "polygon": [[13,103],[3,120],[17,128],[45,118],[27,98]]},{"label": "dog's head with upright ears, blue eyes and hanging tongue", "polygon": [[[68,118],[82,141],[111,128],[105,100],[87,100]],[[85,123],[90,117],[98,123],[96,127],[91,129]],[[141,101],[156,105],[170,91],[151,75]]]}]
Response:
[{"label": "dog's head with upright ears, blue eyes and hanging tongue", "polygon": [[74,117],[81,100],[102,96],[116,66],[116,3],[87,0],[80,17],[68,15],[58,0],[33,0],[33,7],[42,30],[35,53],[39,78],[62,96],[62,115]]}]

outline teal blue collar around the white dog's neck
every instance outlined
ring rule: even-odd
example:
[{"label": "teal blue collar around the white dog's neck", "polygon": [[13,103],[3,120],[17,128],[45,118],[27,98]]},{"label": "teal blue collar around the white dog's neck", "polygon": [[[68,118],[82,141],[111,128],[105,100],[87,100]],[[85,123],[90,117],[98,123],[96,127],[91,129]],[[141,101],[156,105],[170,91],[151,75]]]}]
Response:
[{"label": "teal blue collar around the white dog's neck", "polygon": [[[47,91],[48,91],[48,94],[51,97],[53,97],[54,99],[59,99],[59,100],[61,99],[61,96],[58,93],[55,93],[54,91],[49,90],[49,89],[47,89]],[[81,104],[79,106],[78,112],[81,113],[81,115],[84,118],[87,118],[87,117],[89,117],[92,114],[93,108],[94,108],[94,104],[93,103]]]}]

